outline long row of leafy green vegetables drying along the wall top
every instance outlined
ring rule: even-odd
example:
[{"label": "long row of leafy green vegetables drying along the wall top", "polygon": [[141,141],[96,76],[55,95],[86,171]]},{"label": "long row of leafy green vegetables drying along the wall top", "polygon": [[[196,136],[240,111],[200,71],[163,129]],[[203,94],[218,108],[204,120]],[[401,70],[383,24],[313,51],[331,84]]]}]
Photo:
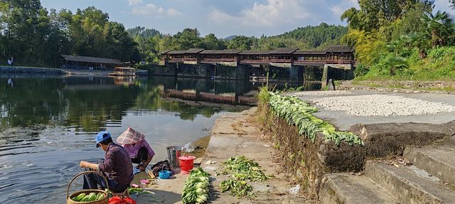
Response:
[{"label": "long row of leafy green vegetables drying along the wall top", "polygon": [[322,131],[324,138],[333,141],[339,146],[342,141],[349,145],[358,144],[363,146],[360,137],[347,131],[336,131],[333,125],[315,117],[318,111],[316,107],[299,100],[297,97],[287,97],[279,93],[269,92],[269,105],[278,117],[286,119],[289,125],[296,125],[299,134],[304,134],[311,141],[316,140],[316,132]]}]

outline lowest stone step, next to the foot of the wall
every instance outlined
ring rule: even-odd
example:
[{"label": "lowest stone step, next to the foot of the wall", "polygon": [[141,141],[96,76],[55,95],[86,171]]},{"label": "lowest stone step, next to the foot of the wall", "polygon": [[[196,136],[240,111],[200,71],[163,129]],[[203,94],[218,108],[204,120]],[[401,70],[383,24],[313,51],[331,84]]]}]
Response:
[{"label": "lowest stone step, next to the foot of the wall", "polygon": [[320,203],[400,203],[366,176],[330,173],[323,178]]}]

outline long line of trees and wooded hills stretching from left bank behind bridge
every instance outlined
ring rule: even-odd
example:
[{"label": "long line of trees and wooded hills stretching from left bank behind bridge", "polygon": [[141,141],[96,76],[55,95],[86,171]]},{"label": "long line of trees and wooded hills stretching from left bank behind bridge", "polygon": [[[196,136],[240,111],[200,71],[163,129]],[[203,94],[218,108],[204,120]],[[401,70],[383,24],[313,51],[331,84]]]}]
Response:
[{"label": "long line of trees and wooded hills stretching from left bank behind bridge", "polygon": [[344,26],[297,28],[279,36],[201,36],[197,28],[163,34],[153,28],[125,29],[122,23],[109,21],[109,14],[93,6],[49,11],[39,0],[0,1],[0,65],[14,58],[15,65],[58,65],[61,54],[117,58],[122,61],[148,63],[159,61],[165,50],[205,48],[210,50],[272,50],[294,47],[323,49],[339,44],[347,33]]}]

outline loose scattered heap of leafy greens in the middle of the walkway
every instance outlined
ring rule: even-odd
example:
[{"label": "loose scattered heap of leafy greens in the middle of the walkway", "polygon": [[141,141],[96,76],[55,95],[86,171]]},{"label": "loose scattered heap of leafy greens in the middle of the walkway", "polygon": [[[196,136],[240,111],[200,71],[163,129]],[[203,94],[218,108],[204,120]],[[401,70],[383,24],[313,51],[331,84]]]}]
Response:
[{"label": "loose scattered heap of leafy greens in the middle of the walkway", "polygon": [[267,176],[258,163],[245,156],[231,157],[223,162],[223,167],[225,170],[222,173],[232,173],[232,176],[221,182],[221,191],[224,193],[230,190],[230,194],[236,195],[237,198],[253,194],[253,188],[247,181],[266,181],[272,177]]}]

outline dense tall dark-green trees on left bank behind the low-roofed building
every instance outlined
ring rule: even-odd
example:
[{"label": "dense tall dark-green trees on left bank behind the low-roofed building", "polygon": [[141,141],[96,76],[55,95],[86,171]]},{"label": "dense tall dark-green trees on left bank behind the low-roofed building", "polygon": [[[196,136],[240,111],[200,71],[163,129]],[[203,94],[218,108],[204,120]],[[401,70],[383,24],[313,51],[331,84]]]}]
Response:
[{"label": "dense tall dark-green trees on left bank behind the low-roofed building", "polygon": [[39,0],[0,1],[0,62],[50,66],[60,54],[132,60],[137,43],[121,23],[95,7],[44,9]]}]

